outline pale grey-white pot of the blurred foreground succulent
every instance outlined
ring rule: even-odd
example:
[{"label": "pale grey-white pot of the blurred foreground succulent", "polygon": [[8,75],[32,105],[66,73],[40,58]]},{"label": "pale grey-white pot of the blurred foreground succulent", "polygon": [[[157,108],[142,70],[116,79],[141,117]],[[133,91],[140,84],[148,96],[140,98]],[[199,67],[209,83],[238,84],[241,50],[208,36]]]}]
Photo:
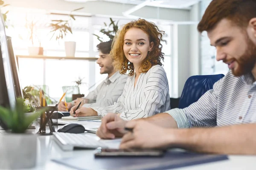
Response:
[{"label": "pale grey-white pot of the blurred foreground succulent", "polygon": [[0,169],[28,169],[35,167],[37,136],[32,133],[4,133],[0,135]]}]

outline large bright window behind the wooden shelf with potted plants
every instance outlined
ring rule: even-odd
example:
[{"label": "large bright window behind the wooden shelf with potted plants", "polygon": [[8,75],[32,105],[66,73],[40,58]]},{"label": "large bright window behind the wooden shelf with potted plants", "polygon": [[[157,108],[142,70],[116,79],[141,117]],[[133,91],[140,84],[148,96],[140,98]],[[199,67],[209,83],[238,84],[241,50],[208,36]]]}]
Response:
[{"label": "large bright window behind the wooden shelf with potted plants", "polygon": [[[51,39],[51,28],[48,27],[50,20],[68,19],[64,15],[49,15],[44,10],[24,10],[21,8],[12,8],[9,11],[9,18],[13,27],[10,27],[6,33],[12,37],[13,48],[15,54],[28,55],[29,42],[28,30],[25,27],[27,20],[36,22],[35,46],[44,48],[44,55],[47,56],[65,56],[64,41],[76,41],[76,57],[93,57],[90,54],[88,32],[88,18],[76,17],[76,21],[71,24],[73,34],[67,35],[65,40],[56,41]],[[19,70],[21,78],[21,86],[27,85],[47,85],[49,86],[49,95],[55,99],[63,94],[62,86],[75,85],[74,81],[78,77],[84,78],[83,82],[88,82],[90,77],[95,75],[89,74],[89,62],[82,60],[54,60],[54,59],[19,59]],[[96,73],[99,73],[97,71]],[[92,82],[94,84],[94,82]],[[81,93],[88,93],[88,87],[82,85]]]}]

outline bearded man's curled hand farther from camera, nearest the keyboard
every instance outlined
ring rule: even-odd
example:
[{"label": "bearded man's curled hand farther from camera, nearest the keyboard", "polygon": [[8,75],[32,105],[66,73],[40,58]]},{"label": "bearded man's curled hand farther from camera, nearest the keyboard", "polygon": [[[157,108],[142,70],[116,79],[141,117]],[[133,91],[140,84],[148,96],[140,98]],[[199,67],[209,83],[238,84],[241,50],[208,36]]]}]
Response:
[{"label": "bearded man's curled hand farther from camera, nearest the keyboard", "polygon": [[126,122],[127,121],[121,119],[119,115],[108,113],[102,118],[102,124],[96,134],[102,139],[122,137],[124,133],[127,133],[127,131],[124,130]]}]

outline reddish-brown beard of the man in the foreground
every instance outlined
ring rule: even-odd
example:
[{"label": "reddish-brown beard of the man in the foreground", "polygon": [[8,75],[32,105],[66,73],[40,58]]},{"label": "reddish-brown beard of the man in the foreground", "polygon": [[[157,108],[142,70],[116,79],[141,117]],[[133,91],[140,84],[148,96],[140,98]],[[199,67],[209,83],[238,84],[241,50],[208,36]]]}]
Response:
[{"label": "reddish-brown beard of the man in the foreground", "polygon": [[[233,68],[232,73],[234,76],[240,77],[242,75],[250,73],[256,63],[256,45],[250,40],[247,36],[247,50],[244,54],[239,58],[235,59],[238,64],[236,69]],[[223,62],[227,62],[227,60],[223,60]]]}]

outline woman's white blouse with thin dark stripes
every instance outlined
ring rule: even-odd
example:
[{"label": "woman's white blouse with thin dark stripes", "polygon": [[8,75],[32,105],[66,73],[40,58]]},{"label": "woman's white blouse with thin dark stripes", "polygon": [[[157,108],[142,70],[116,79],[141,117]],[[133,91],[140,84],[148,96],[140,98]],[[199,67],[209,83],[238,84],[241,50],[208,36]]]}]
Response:
[{"label": "woman's white blouse with thin dark stripes", "polygon": [[121,113],[124,120],[153,116],[170,110],[169,85],[166,72],[154,65],[141,73],[134,87],[135,74],[128,77],[124,91],[117,102],[108,107],[92,107],[98,115]]}]

